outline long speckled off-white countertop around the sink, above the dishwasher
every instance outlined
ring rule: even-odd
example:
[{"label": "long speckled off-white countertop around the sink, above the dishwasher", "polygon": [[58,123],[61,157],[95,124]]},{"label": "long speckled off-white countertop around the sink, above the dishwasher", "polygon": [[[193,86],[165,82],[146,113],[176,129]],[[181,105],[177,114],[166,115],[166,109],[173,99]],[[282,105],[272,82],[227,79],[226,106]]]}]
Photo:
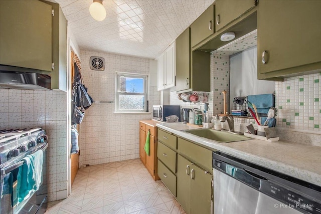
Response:
[{"label": "long speckled off-white countertop around the sink, above the dishwasher", "polygon": [[321,186],[321,147],[319,146],[257,139],[218,143],[181,131],[199,127],[182,123],[158,123],[156,126],[203,146]]}]

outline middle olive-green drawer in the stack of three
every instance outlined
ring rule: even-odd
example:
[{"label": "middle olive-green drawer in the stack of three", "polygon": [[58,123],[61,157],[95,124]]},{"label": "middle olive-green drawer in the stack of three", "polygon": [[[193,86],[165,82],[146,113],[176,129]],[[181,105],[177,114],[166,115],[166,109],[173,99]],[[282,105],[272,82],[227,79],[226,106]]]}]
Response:
[{"label": "middle olive-green drawer in the stack of three", "polygon": [[157,145],[157,157],[159,160],[167,165],[174,173],[176,173],[176,158],[177,153],[164,145],[163,143],[158,143]]}]

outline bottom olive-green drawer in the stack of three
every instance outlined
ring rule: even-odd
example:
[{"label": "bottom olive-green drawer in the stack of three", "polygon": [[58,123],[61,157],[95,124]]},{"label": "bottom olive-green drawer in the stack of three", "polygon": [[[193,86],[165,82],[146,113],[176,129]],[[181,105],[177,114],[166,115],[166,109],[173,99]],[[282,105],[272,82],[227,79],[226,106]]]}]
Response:
[{"label": "bottom olive-green drawer in the stack of three", "polygon": [[158,176],[163,183],[169,188],[172,194],[176,197],[176,176],[173,174],[161,161],[158,160]]}]

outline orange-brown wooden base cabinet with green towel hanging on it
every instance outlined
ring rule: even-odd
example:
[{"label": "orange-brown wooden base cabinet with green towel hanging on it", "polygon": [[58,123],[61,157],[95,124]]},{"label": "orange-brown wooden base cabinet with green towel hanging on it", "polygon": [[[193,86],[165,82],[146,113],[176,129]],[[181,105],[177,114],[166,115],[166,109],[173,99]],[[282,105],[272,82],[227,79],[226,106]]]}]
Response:
[{"label": "orange-brown wooden base cabinet with green towel hanging on it", "polygon": [[[149,130],[149,155],[145,152],[145,142]],[[152,120],[139,121],[139,158],[154,180],[157,175],[157,127]]]}]

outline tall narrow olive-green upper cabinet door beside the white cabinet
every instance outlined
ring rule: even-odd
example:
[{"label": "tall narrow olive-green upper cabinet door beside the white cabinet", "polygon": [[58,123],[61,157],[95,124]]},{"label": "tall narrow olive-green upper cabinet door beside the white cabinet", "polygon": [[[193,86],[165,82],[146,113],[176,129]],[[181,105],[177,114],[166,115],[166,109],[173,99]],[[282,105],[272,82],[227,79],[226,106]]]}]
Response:
[{"label": "tall narrow olive-green upper cabinet door beside the white cabinet", "polygon": [[176,90],[190,88],[191,29],[187,28],[176,43]]}]

